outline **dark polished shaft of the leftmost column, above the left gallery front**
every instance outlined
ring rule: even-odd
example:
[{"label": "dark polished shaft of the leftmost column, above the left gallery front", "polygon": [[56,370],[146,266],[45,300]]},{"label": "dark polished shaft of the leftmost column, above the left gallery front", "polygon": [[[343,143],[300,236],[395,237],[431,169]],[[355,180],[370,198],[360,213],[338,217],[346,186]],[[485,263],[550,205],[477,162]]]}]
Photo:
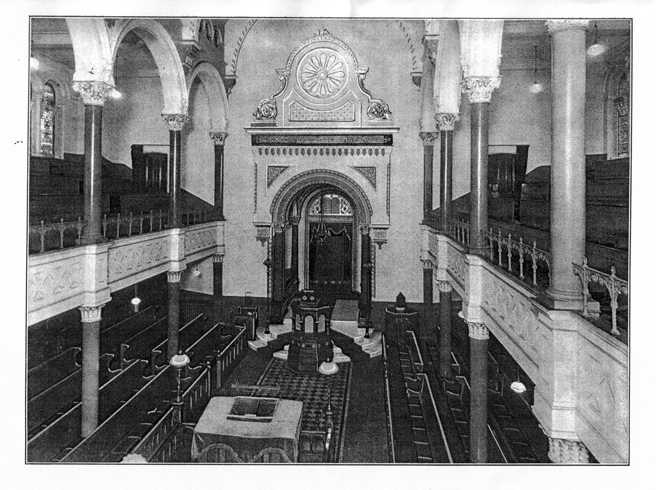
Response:
[{"label": "dark polished shaft of the leftmost column, above the left gallery front", "polygon": [[102,235],[102,113],[101,105],[84,106],[84,219],[82,243]]}]

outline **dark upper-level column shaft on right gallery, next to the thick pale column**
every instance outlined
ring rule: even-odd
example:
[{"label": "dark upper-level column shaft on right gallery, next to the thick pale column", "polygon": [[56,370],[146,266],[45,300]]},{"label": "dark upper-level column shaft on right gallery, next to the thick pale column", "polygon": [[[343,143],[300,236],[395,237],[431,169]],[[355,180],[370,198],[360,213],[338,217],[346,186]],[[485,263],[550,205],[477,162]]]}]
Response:
[{"label": "dark upper-level column shaft on right gallery, next to the thick pale column", "polygon": [[487,231],[488,102],[471,104],[471,192],[469,194],[470,251],[483,253]]}]

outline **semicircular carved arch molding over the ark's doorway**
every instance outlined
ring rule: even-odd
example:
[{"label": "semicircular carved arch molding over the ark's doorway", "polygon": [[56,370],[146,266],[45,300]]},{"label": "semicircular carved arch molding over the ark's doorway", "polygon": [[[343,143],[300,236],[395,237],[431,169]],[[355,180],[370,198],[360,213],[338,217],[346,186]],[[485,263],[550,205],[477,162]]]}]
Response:
[{"label": "semicircular carved arch molding over the ark's doorway", "polygon": [[292,199],[308,187],[322,185],[340,189],[352,200],[357,210],[358,222],[362,225],[371,224],[373,207],[362,187],[347,175],[327,169],[307,170],[285,182],[271,203],[272,221],[284,223]]}]

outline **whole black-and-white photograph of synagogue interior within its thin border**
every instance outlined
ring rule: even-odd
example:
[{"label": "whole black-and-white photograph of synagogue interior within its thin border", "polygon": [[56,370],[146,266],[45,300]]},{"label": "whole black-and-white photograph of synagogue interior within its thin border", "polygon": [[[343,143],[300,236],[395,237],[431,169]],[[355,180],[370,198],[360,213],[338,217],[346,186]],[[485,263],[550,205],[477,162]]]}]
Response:
[{"label": "whole black-and-white photograph of synagogue interior within its thin border", "polygon": [[32,17],[25,461],[627,465],[631,27]]}]

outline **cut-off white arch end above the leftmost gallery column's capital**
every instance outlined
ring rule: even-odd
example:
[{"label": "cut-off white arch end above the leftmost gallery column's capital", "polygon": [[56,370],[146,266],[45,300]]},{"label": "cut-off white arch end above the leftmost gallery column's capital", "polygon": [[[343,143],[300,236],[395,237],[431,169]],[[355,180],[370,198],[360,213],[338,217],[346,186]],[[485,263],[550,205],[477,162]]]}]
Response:
[{"label": "cut-off white arch end above the leftmost gallery column's capital", "polygon": [[75,57],[74,82],[105,82],[114,86],[114,56],[103,19],[66,18]]}]

